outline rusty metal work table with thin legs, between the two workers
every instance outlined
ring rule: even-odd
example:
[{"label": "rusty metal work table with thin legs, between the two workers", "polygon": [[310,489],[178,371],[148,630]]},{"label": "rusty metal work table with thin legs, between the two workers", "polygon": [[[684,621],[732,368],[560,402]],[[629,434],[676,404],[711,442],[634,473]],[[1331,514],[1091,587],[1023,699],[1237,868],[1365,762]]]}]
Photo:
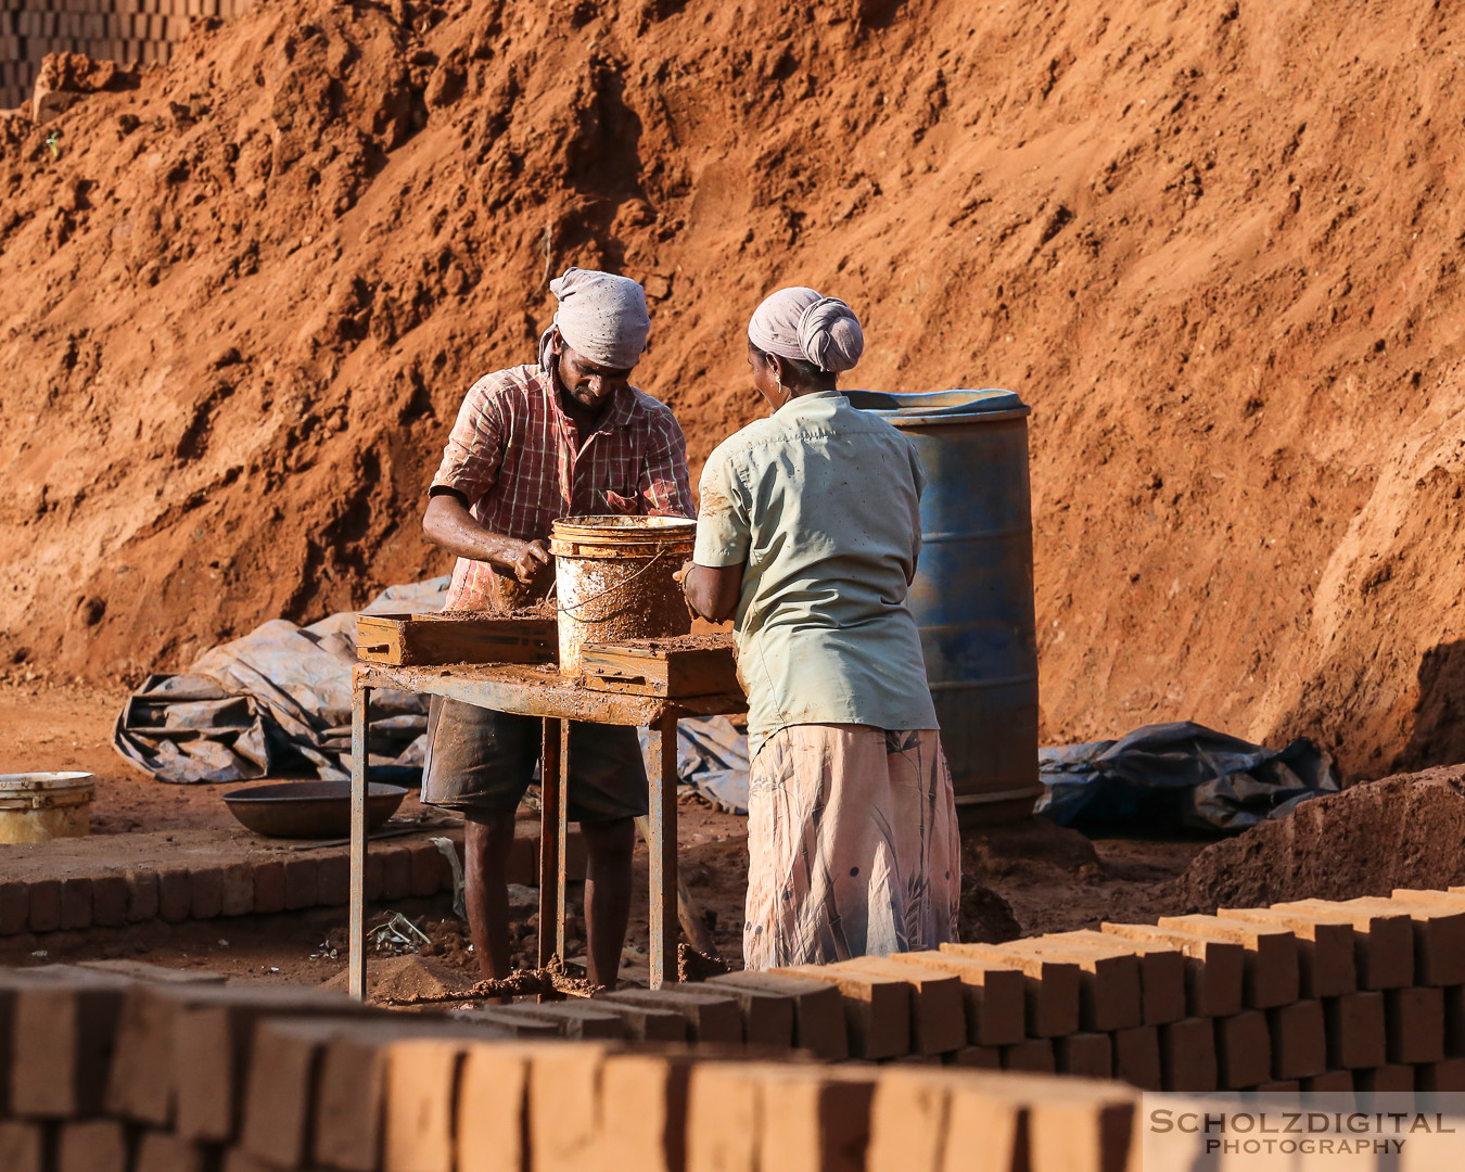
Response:
[{"label": "rusty metal work table with thin legs, between the two workers", "polygon": [[[352,675],[352,898],[347,989],[366,996],[366,727],[377,689],[445,696],[451,700],[544,719],[539,829],[539,964],[565,948],[565,831],[570,778],[570,721],[618,724],[650,730],[646,776],[650,782],[650,987],[659,989],[677,957],[677,721],[743,712],[741,693],[667,699],[595,691],[560,674],[557,667],[522,664],[454,664],[391,667],[360,662]],[[558,778],[558,784],[551,784]],[[555,924],[554,938],[548,924]]]}]

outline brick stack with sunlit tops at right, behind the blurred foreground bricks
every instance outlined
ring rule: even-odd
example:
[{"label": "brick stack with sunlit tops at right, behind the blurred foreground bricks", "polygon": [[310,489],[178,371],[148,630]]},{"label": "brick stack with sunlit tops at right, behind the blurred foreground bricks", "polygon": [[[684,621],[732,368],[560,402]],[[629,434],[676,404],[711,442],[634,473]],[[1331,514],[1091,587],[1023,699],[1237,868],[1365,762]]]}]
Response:
[{"label": "brick stack with sunlit tops at right, behind the blurred foreground bricks", "polygon": [[1461,892],[778,971],[834,984],[848,1052],[875,1061],[1112,1075],[1146,1090],[1465,1090]]}]

